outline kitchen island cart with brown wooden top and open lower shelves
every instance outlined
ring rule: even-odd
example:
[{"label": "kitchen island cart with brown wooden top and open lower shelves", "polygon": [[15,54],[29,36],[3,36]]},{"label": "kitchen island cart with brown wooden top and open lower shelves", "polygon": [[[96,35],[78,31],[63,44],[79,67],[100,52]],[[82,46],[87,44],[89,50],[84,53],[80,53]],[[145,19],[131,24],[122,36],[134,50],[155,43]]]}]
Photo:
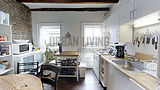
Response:
[{"label": "kitchen island cart with brown wooden top and open lower shelves", "polygon": [[76,66],[59,66],[60,68],[76,68],[76,75],[58,75],[58,77],[76,77],[79,81],[79,52],[76,51],[64,51],[62,53],[55,54],[56,61],[58,58],[76,58]]}]

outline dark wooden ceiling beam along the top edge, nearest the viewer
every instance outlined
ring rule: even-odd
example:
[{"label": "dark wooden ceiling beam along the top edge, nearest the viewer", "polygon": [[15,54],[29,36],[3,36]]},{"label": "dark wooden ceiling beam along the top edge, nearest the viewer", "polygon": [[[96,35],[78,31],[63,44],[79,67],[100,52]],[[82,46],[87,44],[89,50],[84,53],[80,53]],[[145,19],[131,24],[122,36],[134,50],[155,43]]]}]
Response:
[{"label": "dark wooden ceiling beam along the top edge, nearest the viewer", "polygon": [[119,0],[17,0],[22,3],[118,3]]}]

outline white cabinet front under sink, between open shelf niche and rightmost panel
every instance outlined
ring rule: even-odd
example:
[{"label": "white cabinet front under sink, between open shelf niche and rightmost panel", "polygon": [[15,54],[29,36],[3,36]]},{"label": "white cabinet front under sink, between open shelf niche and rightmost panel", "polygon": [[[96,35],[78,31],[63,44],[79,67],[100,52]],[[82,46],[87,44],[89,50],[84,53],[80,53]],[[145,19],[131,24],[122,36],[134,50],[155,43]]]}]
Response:
[{"label": "white cabinet front under sink, between open shelf niche and rightmost panel", "polygon": [[129,78],[109,64],[107,76],[107,90],[129,90]]}]

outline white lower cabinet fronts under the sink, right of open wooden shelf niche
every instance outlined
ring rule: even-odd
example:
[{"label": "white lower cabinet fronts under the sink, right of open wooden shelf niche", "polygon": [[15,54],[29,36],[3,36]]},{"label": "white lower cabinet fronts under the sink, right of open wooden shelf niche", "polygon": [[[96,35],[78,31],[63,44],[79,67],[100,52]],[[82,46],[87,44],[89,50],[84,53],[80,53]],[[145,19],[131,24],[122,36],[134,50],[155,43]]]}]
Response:
[{"label": "white lower cabinet fronts under the sink, right of open wooden shelf niche", "polygon": [[107,90],[145,90],[111,64],[108,64],[108,71],[106,72]]}]

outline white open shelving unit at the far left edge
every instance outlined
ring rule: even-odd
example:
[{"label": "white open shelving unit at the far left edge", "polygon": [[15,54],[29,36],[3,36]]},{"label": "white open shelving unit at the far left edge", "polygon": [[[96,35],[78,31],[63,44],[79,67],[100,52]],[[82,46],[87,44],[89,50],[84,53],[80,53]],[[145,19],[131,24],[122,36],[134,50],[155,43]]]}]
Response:
[{"label": "white open shelving unit at the far left edge", "polygon": [[0,45],[1,45],[1,52],[3,50],[5,50],[7,55],[0,55],[0,59],[1,60],[5,60],[8,62],[9,64],[9,68],[8,69],[1,69],[0,68],[0,75],[4,75],[4,74],[13,74],[13,63],[12,63],[12,25],[8,25],[8,24],[0,24],[0,36],[5,36],[7,38],[5,38],[5,41],[0,41]]}]

